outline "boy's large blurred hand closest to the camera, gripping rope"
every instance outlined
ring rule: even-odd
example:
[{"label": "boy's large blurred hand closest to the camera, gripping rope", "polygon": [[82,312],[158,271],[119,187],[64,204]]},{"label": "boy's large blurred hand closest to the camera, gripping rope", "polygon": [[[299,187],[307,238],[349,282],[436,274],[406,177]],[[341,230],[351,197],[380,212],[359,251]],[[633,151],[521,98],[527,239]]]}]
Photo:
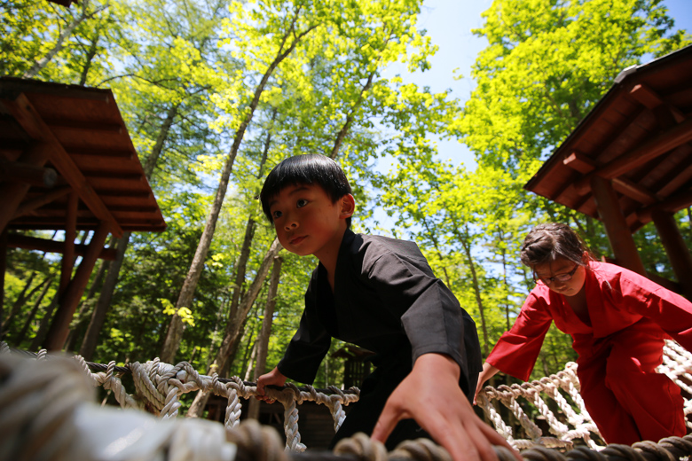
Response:
[{"label": "boy's large blurred hand closest to the camera, gripping rope", "polygon": [[433,439],[447,449],[454,461],[498,461],[492,445],[519,453],[474,413],[459,387],[459,365],[449,356],[425,354],[413,371],[389,395],[373,432],[373,439],[387,440],[405,418],[413,418]]}]

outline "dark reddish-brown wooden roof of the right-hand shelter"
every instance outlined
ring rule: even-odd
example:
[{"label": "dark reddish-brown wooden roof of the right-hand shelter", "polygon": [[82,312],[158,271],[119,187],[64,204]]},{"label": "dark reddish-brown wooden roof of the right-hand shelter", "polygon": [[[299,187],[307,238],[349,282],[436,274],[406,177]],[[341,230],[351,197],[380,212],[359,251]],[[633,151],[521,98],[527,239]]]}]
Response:
[{"label": "dark reddish-brown wooden roof of the right-hand shelter", "polygon": [[599,218],[593,175],[612,179],[631,231],[692,205],[692,45],[622,71],[524,188]]}]

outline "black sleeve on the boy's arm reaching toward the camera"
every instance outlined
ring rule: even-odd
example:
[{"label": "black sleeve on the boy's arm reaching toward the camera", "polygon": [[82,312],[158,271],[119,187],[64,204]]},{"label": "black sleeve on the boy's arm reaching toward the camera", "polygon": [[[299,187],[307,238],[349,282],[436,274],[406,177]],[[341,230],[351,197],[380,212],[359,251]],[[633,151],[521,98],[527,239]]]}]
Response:
[{"label": "black sleeve on the boy's arm reaching toward the camera", "polygon": [[451,356],[460,366],[461,387],[467,395],[474,392],[481,370],[476,324],[417,246],[406,254],[378,255],[366,268],[387,309],[400,316],[413,362],[428,353]]}]

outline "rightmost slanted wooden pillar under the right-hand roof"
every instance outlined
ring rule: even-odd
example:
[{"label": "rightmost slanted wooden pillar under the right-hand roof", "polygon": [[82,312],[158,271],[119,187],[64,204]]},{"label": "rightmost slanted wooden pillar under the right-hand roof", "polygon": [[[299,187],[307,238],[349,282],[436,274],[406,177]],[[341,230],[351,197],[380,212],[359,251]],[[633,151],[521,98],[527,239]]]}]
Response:
[{"label": "rightmost slanted wooden pillar under the right-hand roof", "polygon": [[672,270],[678,277],[682,294],[688,300],[692,300],[692,255],[689,254],[689,248],[680,235],[678,224],[675,223],[672,213],[660,209],[652,212],[651,217],[664,245],[665,253],[668,254]]}]

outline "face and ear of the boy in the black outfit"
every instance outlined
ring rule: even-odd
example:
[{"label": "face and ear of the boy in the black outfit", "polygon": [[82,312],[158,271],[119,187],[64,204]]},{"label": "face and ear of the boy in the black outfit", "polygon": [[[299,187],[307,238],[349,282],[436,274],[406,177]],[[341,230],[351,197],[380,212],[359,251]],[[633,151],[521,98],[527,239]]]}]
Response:
[{"label": "face and ear of the boy in the black outfit", "polygon": [[315,184],[296,184],[282,189],[270,200],[269,209],[280,244],[301,256],[338,251],[346,218],[353,215],[353,197],[336,202]]}]

